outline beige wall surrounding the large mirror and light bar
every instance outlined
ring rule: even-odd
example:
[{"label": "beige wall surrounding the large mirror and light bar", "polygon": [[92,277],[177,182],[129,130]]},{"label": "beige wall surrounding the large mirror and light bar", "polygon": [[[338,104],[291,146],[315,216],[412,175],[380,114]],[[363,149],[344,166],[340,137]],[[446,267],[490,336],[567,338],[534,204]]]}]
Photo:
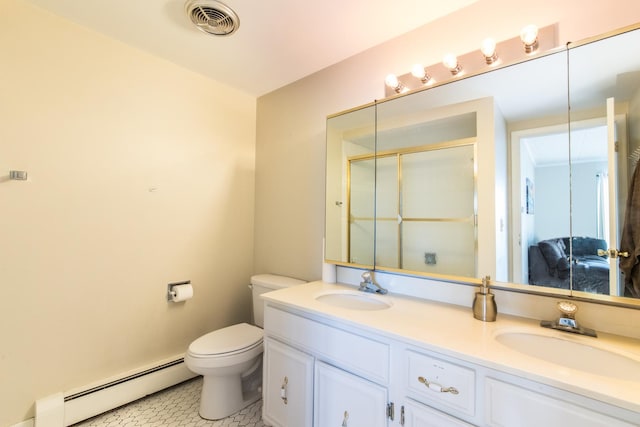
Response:
[{"label": "beige wall surrounding the large mirror and light bar", "polygon": [[[327,115],[384,97],[388,73],[477,50],[529,23],[558,24],[559,44],[640,21],[637,0],[479,0],[402,37],[258,99],[256,271],[321,276]],[[311,53],[312,54],[312,53]]]}]

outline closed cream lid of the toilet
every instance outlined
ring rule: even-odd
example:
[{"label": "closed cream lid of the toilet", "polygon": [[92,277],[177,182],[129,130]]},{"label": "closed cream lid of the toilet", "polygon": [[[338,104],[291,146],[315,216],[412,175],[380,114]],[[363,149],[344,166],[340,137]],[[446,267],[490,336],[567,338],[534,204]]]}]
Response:
[{"label": "closed cream lid of the toilet", "polygon": [[262,341],[262,329],[248,323],[239,323],[209,332],[191,343],[194,355],[234,353]]}]

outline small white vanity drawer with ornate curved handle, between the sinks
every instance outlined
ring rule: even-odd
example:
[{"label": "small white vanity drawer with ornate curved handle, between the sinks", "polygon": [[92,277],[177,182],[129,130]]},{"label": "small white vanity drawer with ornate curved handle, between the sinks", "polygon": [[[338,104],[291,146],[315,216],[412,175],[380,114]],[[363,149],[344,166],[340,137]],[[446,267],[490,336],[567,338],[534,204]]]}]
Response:
[{"label": "small white vanity drawer with ornate curved handle, between the sinks", "polygon": [[407,350],[406,356],[409,397],[475,416],[476,373],[473,369],[411,350]]}]

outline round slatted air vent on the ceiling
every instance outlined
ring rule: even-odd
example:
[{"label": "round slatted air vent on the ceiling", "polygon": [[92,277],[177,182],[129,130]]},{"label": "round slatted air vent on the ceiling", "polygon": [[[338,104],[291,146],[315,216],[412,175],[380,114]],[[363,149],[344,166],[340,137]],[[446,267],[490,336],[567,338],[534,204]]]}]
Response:
[{"label": "round slatted air vent on the ceiling", "polygon": [[207,34],[228,36],[240,26],[238,15],[216,0],[189,0],[184,9],[196,28]]}]

